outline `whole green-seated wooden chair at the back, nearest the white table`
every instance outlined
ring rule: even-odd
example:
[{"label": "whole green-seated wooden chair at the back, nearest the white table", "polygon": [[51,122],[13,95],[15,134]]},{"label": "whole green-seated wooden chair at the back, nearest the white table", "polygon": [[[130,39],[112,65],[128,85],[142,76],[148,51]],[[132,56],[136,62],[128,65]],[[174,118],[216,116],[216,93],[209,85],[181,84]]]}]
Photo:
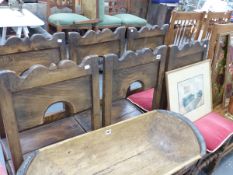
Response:
[{"label": "whole green-seated wooden chair at the back, nearest the white table", "polygon": [[[97,4],[98,0],[81,0],[83,16],[76,13],[75,0],[48,0],[48,27],[55,27],[58,32],[72,29],[92,29],[92,24],[99,21]],[[52,9],[55,13],[52,13]],[[66,12],[67,9],[70,9],[69,12]]]}]

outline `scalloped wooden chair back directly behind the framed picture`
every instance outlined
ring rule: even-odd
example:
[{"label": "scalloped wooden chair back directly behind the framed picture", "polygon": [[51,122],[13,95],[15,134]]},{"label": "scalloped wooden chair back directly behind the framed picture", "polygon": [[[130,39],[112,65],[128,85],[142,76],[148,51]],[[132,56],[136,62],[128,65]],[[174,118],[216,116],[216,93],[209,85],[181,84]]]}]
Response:
[{"label": "scalloped wooden chair back directly behind the framed picture", "polygon": [[[195,41],[192,44],[185,44],[182,48],[176,45],[170,45],[167,52],[167,62],[165,71],[171,71],[177,68],[188,66],[190,64],[203,61],[207,58],[208,40]],[[166,83],[162,85],[161,104],[163,109],[167,109]]]}]

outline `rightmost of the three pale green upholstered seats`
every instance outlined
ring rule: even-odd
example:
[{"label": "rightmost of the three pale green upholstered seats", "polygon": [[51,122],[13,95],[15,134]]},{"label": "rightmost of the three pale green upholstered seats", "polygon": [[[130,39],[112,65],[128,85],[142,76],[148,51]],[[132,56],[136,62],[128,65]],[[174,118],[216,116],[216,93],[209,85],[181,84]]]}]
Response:
[{"label": "rightmost of the three pale green upholstered seats", "polygon": [[141,27],[147,24],[147,21],[145,19],[131,14],[117,14],[114,16],[121,19],[122,25],[125,26]]}]

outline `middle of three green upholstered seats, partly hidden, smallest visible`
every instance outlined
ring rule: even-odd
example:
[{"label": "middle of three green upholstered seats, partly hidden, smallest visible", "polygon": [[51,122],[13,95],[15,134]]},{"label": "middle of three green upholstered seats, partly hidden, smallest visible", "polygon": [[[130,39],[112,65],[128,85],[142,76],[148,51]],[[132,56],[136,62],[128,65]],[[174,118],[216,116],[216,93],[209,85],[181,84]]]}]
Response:
[{"label": "middle of three green upholstered seats, partly hidden, smallest visible", "polygon": [[111,27],[111,26],[121,26],[121,19],[110,16],[110,15],[104,15],[101,19],[101,22],[96,24],[97,27]]}]

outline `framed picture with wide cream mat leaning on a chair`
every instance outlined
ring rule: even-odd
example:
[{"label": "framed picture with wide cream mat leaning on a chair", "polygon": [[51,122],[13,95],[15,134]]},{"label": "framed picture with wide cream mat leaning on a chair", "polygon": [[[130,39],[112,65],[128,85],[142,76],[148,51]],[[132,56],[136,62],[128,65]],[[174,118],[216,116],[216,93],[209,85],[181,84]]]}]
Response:
[{"label": "framed picture with wide cream mat leaning on a chair", "polygon": [[168,104],[171,111],[192,121],[212,111],[210,60],[166,72]]}]

